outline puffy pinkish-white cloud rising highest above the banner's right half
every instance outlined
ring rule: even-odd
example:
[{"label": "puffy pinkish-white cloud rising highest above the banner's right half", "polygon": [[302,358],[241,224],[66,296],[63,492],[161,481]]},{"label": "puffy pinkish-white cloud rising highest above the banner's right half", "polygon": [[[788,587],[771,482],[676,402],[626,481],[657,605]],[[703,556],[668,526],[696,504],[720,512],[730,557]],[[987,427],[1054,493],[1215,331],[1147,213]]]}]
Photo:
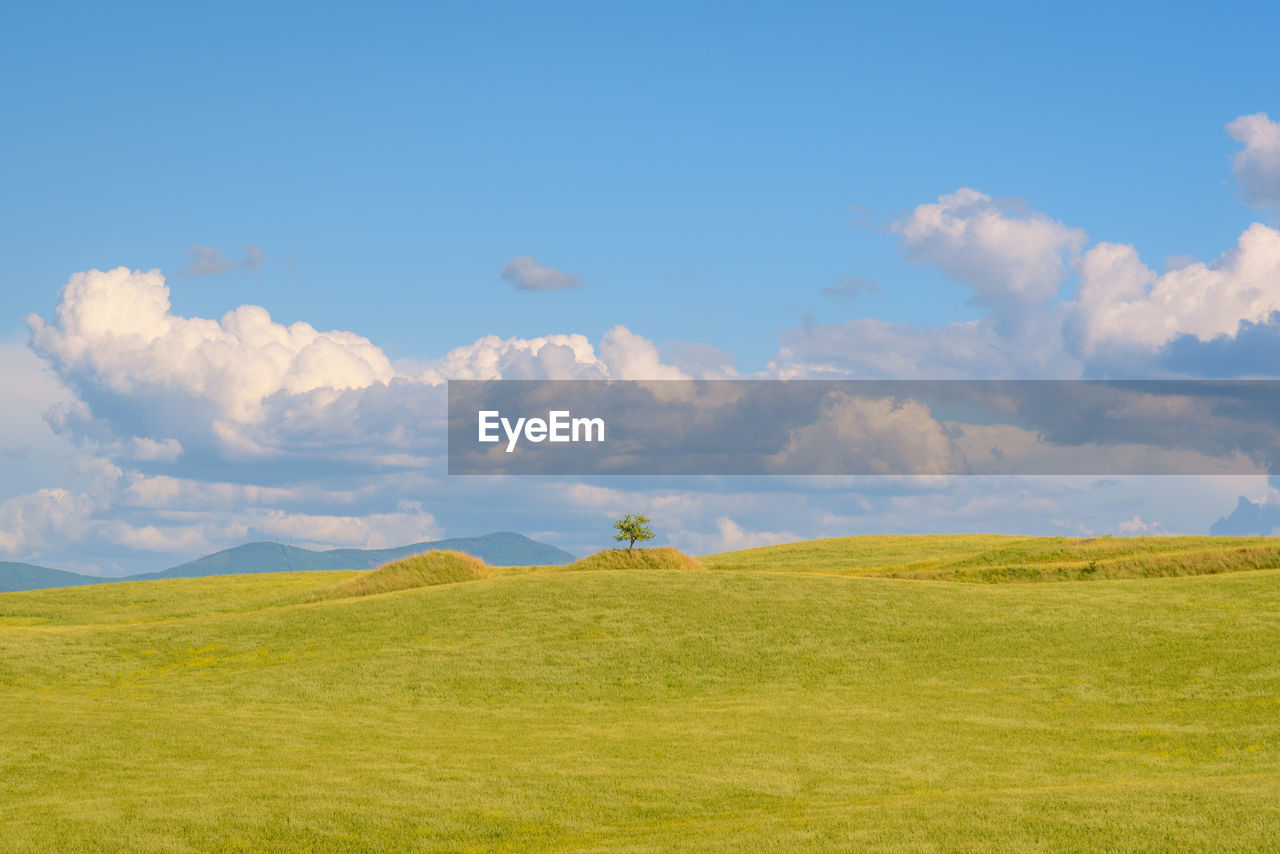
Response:
[{"label": "puffy pinkish-white cloud rising highest above the banner's right half", "polygon": [[973,301],[1014,316],[1052,298],[1085,234],[961,187],[893,224],[906,257],[973,288]]}]

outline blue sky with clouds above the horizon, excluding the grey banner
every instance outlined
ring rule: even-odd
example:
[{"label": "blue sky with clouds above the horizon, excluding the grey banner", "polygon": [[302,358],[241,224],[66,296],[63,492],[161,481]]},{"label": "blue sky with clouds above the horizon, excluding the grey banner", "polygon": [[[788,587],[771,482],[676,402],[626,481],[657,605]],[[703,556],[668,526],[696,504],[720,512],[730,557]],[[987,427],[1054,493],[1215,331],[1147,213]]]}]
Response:
[{"label": "blue sky with clouds above the horizon, excluding the grey banner", "polygon": [[1280,529],[1265,475],[445,474],[448,379],[1276,375],[1275,4],[890,5],[6,4],[0,560]]}]

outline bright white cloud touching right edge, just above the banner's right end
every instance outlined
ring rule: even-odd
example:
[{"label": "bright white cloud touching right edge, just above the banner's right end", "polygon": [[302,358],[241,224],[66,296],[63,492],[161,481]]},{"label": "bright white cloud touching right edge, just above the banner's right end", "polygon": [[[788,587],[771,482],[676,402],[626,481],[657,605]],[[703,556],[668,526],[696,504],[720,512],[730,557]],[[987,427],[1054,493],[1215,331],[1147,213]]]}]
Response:
[{"label": "bright white cloud touching right edge, just above the banner's right end", "polygon": [[1106,350],[1153,351],[1180,334],[1234,337],[1242,320],[1280,310],[1280,232],[1254,223],[1212,264],[1164,275],[1132,246],[1098,243],[1076,262],[1080,286],[1073,325],[1085,356]]}]

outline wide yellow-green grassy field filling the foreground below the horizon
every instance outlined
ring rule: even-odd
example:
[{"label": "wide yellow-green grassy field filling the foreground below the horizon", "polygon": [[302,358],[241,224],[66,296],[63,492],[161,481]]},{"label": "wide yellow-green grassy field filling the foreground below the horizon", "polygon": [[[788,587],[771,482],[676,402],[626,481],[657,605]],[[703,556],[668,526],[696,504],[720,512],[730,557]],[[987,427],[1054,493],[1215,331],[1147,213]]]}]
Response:
[{"label": "wide yellow-green grassy field filling the foreground below the horizon", "polygon": [[4,594],[0,850],[1275,850],[1270,548]]}]

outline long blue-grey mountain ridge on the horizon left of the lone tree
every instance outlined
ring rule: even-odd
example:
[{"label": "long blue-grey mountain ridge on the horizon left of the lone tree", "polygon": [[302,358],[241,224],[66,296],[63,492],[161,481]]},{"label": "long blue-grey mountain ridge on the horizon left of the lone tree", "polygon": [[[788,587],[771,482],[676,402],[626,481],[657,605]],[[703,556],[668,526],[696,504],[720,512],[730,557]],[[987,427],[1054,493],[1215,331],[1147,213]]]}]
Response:
[{"label": "long blue-grey mountain ridge on the horizon left of the lone tree", "polygon": [[206,554],[163,572],[131,575],[123,581],[145,579],[195,579],[207,575],[246,575],[251,572],[300,572],[307,570],[371,570],[410,554],[452,549],[479,557],[490,566],[559,566],[576,558],[568,552],[512,533],[458,536],[447,540],[413,543],[399,548],[335,548],[312,552],[279,543],[246,543]]}]

